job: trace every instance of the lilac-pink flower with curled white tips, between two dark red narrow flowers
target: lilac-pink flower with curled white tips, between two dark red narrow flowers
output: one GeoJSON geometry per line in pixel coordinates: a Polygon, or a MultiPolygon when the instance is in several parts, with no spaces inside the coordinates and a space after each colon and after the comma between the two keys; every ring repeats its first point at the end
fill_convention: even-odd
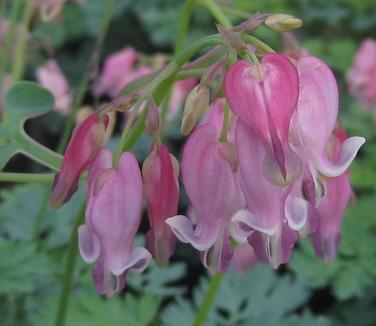
{"type": "Polygon", "coordinates": [[[128,270],[142,272],[151,254],[133,248],[141,221],[142,177],[130,152],[112,168],[112,154],[101,149],[90,164],[85,224],[78,229],[79,248],[87,263],[98,260],[93,270],[97,291],[111,296],[124,288],[128,270]]]}

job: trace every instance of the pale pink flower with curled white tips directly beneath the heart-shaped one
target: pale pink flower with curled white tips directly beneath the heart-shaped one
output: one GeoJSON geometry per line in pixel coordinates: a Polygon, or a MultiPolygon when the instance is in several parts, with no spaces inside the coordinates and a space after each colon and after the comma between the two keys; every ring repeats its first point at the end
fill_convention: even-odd
{"type": "Polygon", "coordinates": [[[300,198],[286,198],[291,186],[279,187],[263,175],[265,147],[251,127],[239,121],[236,129],[240,185],[247,209],[232,218],[232,235],[240,243],[249,242],[258,260],[277,268],[288,262],[297,241],[297,233],[287,218],[305,220],[307,208],[300,198]]]}

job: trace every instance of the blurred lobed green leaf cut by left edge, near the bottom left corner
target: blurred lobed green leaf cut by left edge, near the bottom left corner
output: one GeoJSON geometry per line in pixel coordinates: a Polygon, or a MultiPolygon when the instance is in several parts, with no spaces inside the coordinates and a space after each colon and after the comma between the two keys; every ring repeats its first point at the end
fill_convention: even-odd
{"type": "Polygon", "coordinates": [[[0,294],[34,291],[51,275],[50,267],[34,244],[0,239],[0,294]]]}

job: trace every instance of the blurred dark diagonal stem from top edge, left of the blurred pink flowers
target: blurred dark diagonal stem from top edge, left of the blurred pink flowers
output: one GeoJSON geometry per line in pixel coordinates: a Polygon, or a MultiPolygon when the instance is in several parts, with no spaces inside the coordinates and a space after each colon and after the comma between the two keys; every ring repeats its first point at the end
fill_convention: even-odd
{"type": "Polygon", "coordinates": [[[103,16],[102,16],[101,28],[100,28],[99,34],[97,36],[97,40],[95,42],[93,52],[92,52],[91,57],[88,61],[85,72],[82,76],[80,85],[78,87],[78,91],[76,93],[76,96],[74,97],[72,112],[69,115],[68,121],[66,122],[65,129],[64,129],[64,132],[63,132],[63,136],[62,136],[60,143],[59,143],[59,146],[58,146],[58,152],[59,153],[64,152],[65,147],[68,144],[68,141],[69,141],[71,133],[72,133],[72,129],[74,127],[76,112],[78,111],[78,109],[82,105],[87,87],[88,87],[89,82],[90,82],[90,77],[92,76],[92,72],[97,69],[97,65],[98,65],[98,61],[99,61],[99,53],[101,51],[103,42],[105,40],[106,34],[107,34],[109,26],[110,26],[111,16],[112,16],[112,12],[113,12],[113,8],[114,8],[115,3],[116,3],[116,0],[107,0],[107,2],[106,2],[106,6],[104,8],[103,16]]]}

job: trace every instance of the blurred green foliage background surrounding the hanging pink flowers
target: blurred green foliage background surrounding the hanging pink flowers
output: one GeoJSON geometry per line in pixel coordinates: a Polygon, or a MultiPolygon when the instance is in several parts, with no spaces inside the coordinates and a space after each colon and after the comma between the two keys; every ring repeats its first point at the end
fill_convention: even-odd
{"type": "MultiPolygon", "coordinates": [[[[200,2],[200,1],[198,1],[200,2]]],[[[340,85],[341,119],[349,135],[367,143],[353,163],[351,179],[356,201],[343,220],[342,242],[333,263],[317,258],[310,240],[299,243],[289,265],[273,271],[257,265],[249,272],[226,274],[207,325],[376,325],[376,133],[371,114],[346,90],[346,73],[361,41],[376,37],[374,0],[217,0],[228,17],[239,22],[246,13],[288,13],[304,21],[295,33],[302,47],[324,59],[340,85]]],[[[145,54],[173,52],[183,1],[118,0],[101,62],[126,46],[145,54]]],[[[67,2],[57,22],[33,26],[25,79],[53,57],[70,85],[77,88],[99,32],[104,1],[82,6],[67,2]]],[[[215,21],[198,5],[186,44],[215,32],[215,21]]],[[[257,36],[282,49],[280,35],[262,27],[257,36]]],[[[85,103],[93,105],[93,98],[85,103]]],[[[51,113],[28,123],[33,137],[56,146],[65,118],[51,113]]],[[[179,125],[169,141],[180,149],[179,125]]],[[[116,141],[116,138],[115,140],[116,141]]],[[[136,153],[150,148],[141,138],[136,153]]],[[[8,171],[40,171],[30,160],[16,157],[8,171]]],[[[1,184],[0,189],[0,324],[52,325],[64,272],[72,220],[84,192],[61,210],[41,210],[46,185],[1,184]],[[45,215],[39,241],[33,226],[45,215]]],[[[83,188],[83,187],[81,187],[83,188]]],[[[184,208],[184,207],[183,207],[184,208]]],[[[140,242],[142,239],[140,238],[140,242]]],[[[95,293],[90,266],[78,258],[67,325],[191,325],[208,285],[198,255],[179,245],[166,270],[152,265],[129,275],[128,286],[110,300],[95,293]],[[192,258],[194,257],[194,258],[192,258]]]]}

